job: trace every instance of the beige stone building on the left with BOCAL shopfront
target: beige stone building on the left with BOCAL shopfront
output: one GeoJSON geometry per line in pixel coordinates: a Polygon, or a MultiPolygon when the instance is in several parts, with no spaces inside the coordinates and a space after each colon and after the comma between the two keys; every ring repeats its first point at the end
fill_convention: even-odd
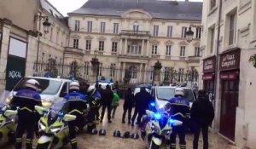
{"type": "Polygon", "coordinates": [[[44,72],[36,62],[63,63],[68,39],[67,20],[47,0],[1,1],[0,90],[12,89],[21,77],[44,72]]]}

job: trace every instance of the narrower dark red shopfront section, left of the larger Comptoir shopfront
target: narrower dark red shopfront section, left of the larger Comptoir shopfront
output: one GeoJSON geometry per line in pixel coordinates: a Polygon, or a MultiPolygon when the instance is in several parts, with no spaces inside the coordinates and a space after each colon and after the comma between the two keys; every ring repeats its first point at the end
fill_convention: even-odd
{"type": "Polygon", "coordinates": [[[214,93],[215,65],[215,56],[208,57],[207,59],[203,60],[203,88],[207,91],[208,95],[212,95],[214,93]]]}

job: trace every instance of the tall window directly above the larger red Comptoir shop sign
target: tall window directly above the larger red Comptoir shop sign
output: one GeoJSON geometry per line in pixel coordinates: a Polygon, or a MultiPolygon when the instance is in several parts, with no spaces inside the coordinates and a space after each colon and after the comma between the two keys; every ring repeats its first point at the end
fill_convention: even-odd
{"type": "Polygon", "coordinates": [[[230,15],[229,45],[236,43],[236,14],[230,15]]]}

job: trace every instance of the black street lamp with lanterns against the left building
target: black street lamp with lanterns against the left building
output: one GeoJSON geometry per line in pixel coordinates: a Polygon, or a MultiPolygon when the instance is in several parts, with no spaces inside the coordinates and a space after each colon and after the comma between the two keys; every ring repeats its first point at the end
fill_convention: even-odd
{"type": "MultiPolygon", "coordinates": [[[[39,31],[41,30],[41,20],[44,20],[43,26],[44,26],[44,33],[49,33],[49,26],[51,26],[51,23],[49,23],[48,16],[42,16],[42,15],[35,15],[34,21],[39,20],[39,31]]],[[[36,60],[36,71],[38,72],[38,55],[39,55],[39,48],[40,48],[40,37],[43,35],[41,32],[32,32],[33,37],[38,37],[38,51],[37,51],[37,60],[36,60]]]]}

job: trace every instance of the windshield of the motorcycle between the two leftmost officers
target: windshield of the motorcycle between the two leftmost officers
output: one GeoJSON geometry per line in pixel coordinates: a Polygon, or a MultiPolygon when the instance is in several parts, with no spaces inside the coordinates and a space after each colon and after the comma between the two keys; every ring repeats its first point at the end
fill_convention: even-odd
{"type": "Polygon", "coordinates": [[[55,123],[56,120],[64,117],[67,112],[67,104],[65,100],[56,101],[49,109],[48,125],[55,123]]]}

